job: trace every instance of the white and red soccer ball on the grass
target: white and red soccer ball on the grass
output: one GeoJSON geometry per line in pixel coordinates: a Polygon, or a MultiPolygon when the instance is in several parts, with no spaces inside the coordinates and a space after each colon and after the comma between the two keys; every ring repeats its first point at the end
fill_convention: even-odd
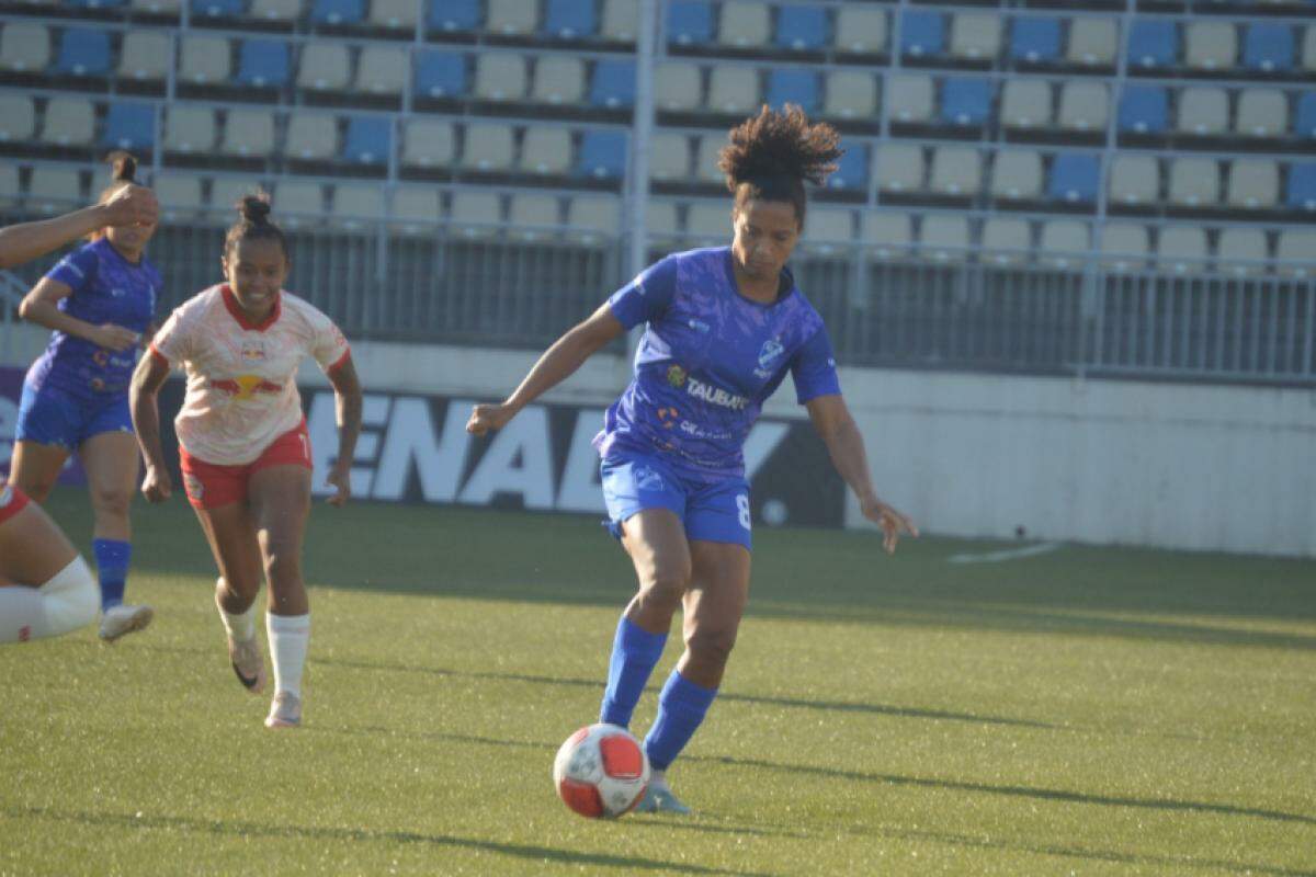
{"type": "Polygon", "coordinates": [[[617,724],[587,724],[567,738],[553,760],[553,785],[582,817],[625,815],[649,785],[644,747],[617,724]]]}

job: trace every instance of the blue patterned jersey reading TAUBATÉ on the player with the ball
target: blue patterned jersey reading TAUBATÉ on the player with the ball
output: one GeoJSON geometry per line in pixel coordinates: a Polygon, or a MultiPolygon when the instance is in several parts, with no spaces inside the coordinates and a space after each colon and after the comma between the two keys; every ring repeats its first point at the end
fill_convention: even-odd
{"type": "Polygon", "coordinates": [[[769,396],[791,372],[803,405],[841,392],[822,318],[783,272],[772,304],[740,293],[730,247],[676,252],[608,300],[630,329],[647,322],[636,373],[595,439],[670,452],[708,475],[744,475],[744,446],[769,396]]]}

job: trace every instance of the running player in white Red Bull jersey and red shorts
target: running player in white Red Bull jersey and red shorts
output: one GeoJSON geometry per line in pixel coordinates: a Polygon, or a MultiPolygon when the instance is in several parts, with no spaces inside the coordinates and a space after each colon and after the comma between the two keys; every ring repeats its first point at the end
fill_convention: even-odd
{"type": "Polygon", "coordinates": [[[142,493],[163,502],[172,492],[159,438],[157,393],[171,367],[187,375],[174,421],[183,486],[220,568],[215,601],[238,680],[265,686],[255,636],[261,572],[268,581],[266,628],[275,693],[267,727],[301,722],[301,671],[311,635],[301,580],[301,539],[311,511],[311,443],[296,373],[313,356],[337,397],[338,458],[326,483],[332,505],[350,494],[361,433],[361,384],[347,341],[309,302],[283,291],[288,246],[270,222],[270,204],[249,196],[224,245],[226,283],[183,302],[155,334],[133,375],[133,425],[146,458],[142,493]]]}

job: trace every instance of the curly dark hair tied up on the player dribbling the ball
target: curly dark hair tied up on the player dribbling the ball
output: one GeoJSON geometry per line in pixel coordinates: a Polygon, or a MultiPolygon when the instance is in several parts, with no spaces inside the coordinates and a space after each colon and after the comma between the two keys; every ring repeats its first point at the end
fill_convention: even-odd
{"type": "Polygon", "coordinates": [[[822,185],[836,170],[842,150],[840,134],[825,122],[809,124],[796,104],[780,112],[765,105],[758,116],[730,130],[717,167],[740,210],[750,199],[788,201],[804,226],[804,183],[822,185]]]}

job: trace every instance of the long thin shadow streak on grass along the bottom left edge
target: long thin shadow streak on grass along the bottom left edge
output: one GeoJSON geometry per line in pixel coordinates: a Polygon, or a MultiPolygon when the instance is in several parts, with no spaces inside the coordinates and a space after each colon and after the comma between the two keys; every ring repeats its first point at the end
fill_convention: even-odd
{"type": "Polygon", "coordinates": [[[49,807],[7,807],[0,810],[7,817],[18,819],[45,819],[50,822],[76,822],[84,826],[105,828],[168,828],[193,831],[197,834],[228,835],[234,838],[283,838],[293,840],[350,840],[386,841],[399,844],[422,844],[432,847],[458,847],[476,849],[501,856],[512,856],[529,861],[551,861],[565,865],[591,868],[616,868],[622,873],[669,872],[678,874],[724,874],[726,877],[770,877],[765,872],[728,870],[705,868],[640,856],[608,856],[603,853],[580,853],[553,847],[532,844],[496,843],[478,838],[458,838],[455,835],[428,835],[416,831],[374,831],[370,828],[334,828],[322,826],[266,826],[236,819],[193,819],[190,817],[129,815],[116,813],[62,811],[49,807]]]}

